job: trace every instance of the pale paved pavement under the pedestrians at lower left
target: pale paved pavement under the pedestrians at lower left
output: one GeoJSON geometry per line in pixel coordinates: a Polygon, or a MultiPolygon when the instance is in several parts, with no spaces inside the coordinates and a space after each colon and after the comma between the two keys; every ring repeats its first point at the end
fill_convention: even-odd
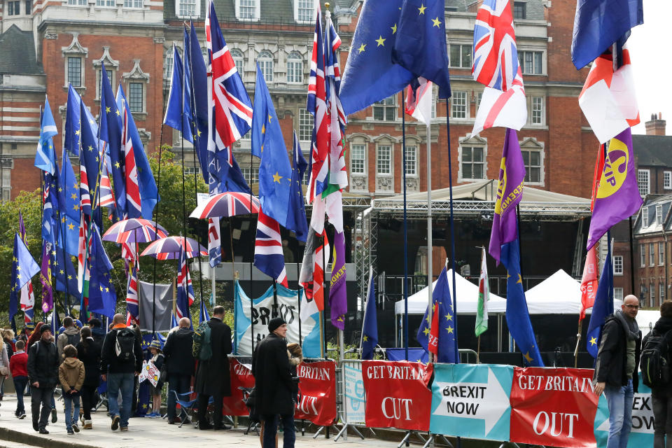
{"type": "MultiPolygon", "coordinates": [[[[30,417],[29,397],[25,402],[28,416],[23,420],[16,419],[16,397],[6,394],[0,402],[0,448],[188,448],[188,447],[260,447],[259,437],[254,433],[244,435],[244,427],[239,426],[231,430],[212,431],[197,430],[193,426],[169,425],[165,419],[134,418],[130,419],[128,432],[110,429],[111,420],[106,416],[105,408],[92,413],[93,429],[81,430],[75,435],[68,435],[65,429],[63,402],[56,402],[58,421],[47,426],[49,435],[40,435],[32,428],[30,417]]],[[[280,442],[280,447],[282,443],[280,442]]],[[[347,441],[339,439],[334,442],[333,434],[329,439],[319,435],[313,439],[306,433],[296,434],[297,447],[331,447],[346,448],[393,448],[396,442],[387,442],[373,438],[361,440],[359,437],[349,436],[347,441]]]]}

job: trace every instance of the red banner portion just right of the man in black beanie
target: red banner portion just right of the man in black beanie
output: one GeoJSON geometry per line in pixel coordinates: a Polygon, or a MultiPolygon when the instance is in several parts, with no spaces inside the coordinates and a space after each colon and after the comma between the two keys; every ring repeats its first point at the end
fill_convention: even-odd
{"type": "Polygon", "coordinates": [[[336,363],[318,361],[300,363],[296,367],[299,381],[299,402],[294,418],[310,420],[318,426],[330,425],[337,418],[336,363]]]}

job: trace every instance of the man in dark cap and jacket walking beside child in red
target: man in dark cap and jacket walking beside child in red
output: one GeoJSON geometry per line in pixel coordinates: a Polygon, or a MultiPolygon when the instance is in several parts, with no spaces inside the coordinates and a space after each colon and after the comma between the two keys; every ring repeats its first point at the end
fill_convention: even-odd
{"type": "Polygon", "coordinates": [[[28,351],[28,377],[33,429],[48,434],[47,422],[51,414],[54,388],[58,383],[58,351],[52,342],[51,328],[42,325],[41,338],[28,351]],[[40,412],[42,405],[42,412],[40,412]]]}

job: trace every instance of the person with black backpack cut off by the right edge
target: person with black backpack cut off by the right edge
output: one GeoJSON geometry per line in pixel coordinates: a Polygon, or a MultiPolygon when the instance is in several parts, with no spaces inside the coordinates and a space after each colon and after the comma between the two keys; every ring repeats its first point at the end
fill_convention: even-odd
{"type": "Polygon", "coordinates": [[[672,448],[672,301],[660,305],[660,318],[642,343],[642,377],[651,388],[653,402],[653,448],[672,448]],[[665,436],[667,435],[667,444],[665,436]]]}

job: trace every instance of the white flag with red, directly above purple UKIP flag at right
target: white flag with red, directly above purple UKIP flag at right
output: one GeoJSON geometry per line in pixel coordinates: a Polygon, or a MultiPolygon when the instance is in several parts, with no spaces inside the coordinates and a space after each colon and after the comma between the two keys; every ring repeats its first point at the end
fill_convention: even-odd
{"type": "Polygon", "coordinates": [[[616,71],[610,53],[595,59],[579,94],[579,106],[600,143],[640,121],[627,48],[623,49],[622,59],[622,66],[616,71]]]}

